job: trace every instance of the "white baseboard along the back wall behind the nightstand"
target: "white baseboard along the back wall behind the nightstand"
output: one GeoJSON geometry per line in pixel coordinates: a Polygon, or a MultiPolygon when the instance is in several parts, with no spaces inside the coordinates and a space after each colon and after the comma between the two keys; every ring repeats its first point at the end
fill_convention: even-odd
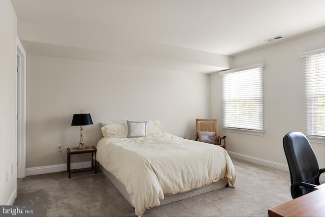
{"type": "MultiPolygon", "coordinates": [[[[81,169],[91,167],[91,161],[87,162],[79,162],[79,163],[72,163],[71,169],[81,169]]],[[[55,173],[67,171],[67,164],[56,164],[56,165],[49,165],[49,166],[42,166],[42,167],[29,167],[26,168],[26,176],[29,175],[40,175],[46,173],[55,173]]]]}

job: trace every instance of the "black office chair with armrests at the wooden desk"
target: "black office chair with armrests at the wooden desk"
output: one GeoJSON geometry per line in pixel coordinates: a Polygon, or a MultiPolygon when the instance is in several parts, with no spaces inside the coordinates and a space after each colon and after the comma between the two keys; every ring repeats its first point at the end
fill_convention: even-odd
{"type": "Polygon", "coordinates": [[[283,137],[283,148],[288,162],[293,199],[312,192],[319,185],[319,169],[316,156],[306,136],[300,132],[287,133],[283,137]]]}

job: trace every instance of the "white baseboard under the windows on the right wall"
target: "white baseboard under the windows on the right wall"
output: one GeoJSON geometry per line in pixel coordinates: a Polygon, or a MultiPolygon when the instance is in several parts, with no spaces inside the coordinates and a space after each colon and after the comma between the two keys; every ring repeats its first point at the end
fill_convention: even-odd
{"type": "MultiPolygon", "coordinates": [[[[234,158],[234,159],[247,161],[247,162],[250,162],[252,164],[259,165],[259,166],[264,166],[264,167],[269,167],[269,168],[272,168],[272,169],[278,169],[278,170],[282,170],[282,171],[285,171],[285,172],[289,172],[289,167],[286,164],[280,164],[280,163],[276,163],[276,162],[273,162],[273,161],[264,160],[264,159],[261,159],[261,158],[255,158],[255,157],[247,156],[245,154],[236,153],[236,152],[233,152],[233,151],[227,151],[227,152],[229,153],[229,156],[231,158],[234,158]]],[[[325,174],[320,175],[319,181],[320,182],[325,182],[325,174]]]]}

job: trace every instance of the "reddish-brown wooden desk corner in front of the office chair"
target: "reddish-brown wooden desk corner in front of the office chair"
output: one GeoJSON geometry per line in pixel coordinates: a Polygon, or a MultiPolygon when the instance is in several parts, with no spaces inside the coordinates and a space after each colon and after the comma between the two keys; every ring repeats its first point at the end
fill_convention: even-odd
{"type": "Polygon", "coordinates": [[[325,216],[325,188],[269,209],[268,214],[271,217],[325,216]]]}

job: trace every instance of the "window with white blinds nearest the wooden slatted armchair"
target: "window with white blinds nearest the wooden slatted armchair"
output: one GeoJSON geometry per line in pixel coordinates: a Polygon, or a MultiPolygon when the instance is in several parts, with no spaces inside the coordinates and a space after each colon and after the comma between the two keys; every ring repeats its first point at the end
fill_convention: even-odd
{"type": "Polygon", "coordinates": [[[264,64],[220,72],[222,76],[223,127],[264,131],[264,64]]]}

